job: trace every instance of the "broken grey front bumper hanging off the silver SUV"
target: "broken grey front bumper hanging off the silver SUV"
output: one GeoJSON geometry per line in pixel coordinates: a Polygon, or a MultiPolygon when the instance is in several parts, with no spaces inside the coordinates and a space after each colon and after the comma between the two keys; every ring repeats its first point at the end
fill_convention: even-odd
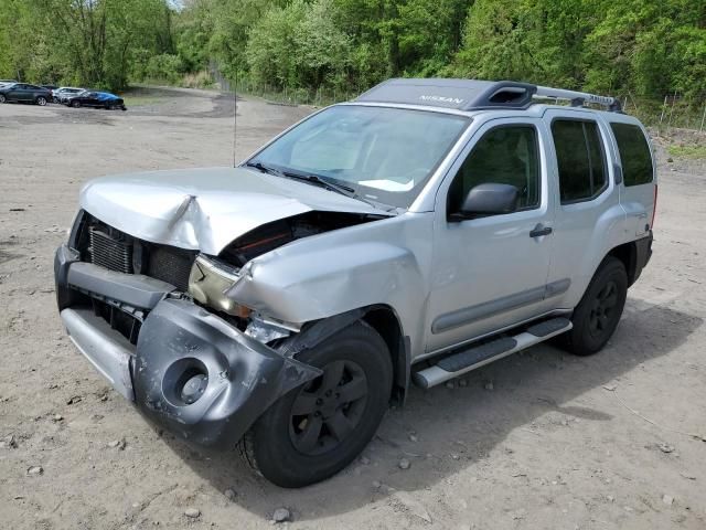
{"type": "Polygon", "coordinates": [[[290,390],[320,375],[220,317],[174,287],[141,275],[78,261],[63,245],[54,262],[62,321],[78,350],[149,418],[202,446],[233,446],[257,417],[290,390]],[[141,319],[131,343],[86,299],[141,319]],[[183,399],[186,380],[204,378],[199,398],[183,399]]]}

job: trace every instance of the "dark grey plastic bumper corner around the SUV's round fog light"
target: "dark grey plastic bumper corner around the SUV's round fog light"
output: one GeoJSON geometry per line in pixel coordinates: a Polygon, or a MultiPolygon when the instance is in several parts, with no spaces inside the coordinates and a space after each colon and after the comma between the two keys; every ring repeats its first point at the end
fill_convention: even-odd
{"type": "Polygon", "coordinates": [[[168,298],[140,330],[135,398],[142,413],[179,437],[226,449],[276,400],[321,373],[190,301],[168,298]],[[189,370],[207,377],[205,391],[191,404],[174,391],[189,370]]]}

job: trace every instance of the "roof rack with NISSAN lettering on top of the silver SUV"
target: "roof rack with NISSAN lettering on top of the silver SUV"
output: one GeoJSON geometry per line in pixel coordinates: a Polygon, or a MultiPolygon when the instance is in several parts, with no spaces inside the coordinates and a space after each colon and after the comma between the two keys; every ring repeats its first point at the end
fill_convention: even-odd
{"type": "Polygon", "coordinates": [[[595,104],[608,107],[612,112],[621,110],[620,102],[613,97],[514,81],[395,78],[374,86],[355,100],[486,110],[526,109],[535,103],[535,98],[568,100],[575,107],[595,104]]]}

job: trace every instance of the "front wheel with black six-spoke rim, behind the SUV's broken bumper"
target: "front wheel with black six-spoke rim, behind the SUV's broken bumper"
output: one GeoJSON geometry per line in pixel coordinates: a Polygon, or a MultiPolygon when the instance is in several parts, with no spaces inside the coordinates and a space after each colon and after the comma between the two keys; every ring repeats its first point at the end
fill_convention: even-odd
{"type": "Polygon", "coordinates": [[[385,341],[360,321],[297,359],[323,375],[275,402],[239,443],[250,467],[285,488],[318,483],[349,465],[375,435],[393,383],[385,341]]]}

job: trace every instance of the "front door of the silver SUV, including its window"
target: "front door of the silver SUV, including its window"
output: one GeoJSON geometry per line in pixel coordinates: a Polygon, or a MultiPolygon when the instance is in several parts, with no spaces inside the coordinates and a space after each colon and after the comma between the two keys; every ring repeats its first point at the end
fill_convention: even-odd
{"type": "Polygon", "coordinates": [[[548,131],[539,119],[499,118],[473,135],[437,194],[427,351],[480,337],[552,308],[547,274],[555,197],[548,131]],[[475,186],[512,184],[513,213],[453,219],[475,186]]]}

